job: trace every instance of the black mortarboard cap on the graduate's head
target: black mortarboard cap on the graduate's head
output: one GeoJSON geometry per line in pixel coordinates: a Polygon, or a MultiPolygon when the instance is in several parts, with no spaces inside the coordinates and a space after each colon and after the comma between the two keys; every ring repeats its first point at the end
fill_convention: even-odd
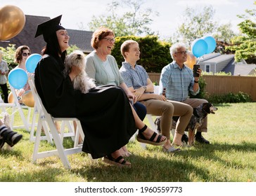
{"type": "Polygon", "coordinates": [[[42,34],[44,36],[44,41],[47,42],[53,33],[60,29],[65,29],[64,27],[60,26],[61,17],[62,15],[59,15],[56,18],[37,25],[37,32],[34,37],[40,36],[42,34]]]}

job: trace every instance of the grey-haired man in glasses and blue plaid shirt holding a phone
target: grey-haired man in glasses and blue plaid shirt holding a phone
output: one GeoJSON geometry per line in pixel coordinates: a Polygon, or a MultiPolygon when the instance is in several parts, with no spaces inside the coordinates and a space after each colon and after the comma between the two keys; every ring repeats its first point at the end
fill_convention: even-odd
{"type": "MultiPolygon", "coordinates": [[[[188,97],[189,92],[196,95],[200,91],[198,81],[202,70],[199,68],[197,71],[199,76],[194,77],[193,70],[184,64],[187,59],[186,45],[184,43],[175,43],[169,50],[173,62],[162,68],[160,92],[165,88],[167,99],[188,104],[193,108],[207,103],[205,99],[191,99],[188,97]]],[[[203,125],[198,127],[196,141],[200,144],[210,144],[210,141],[203,137],[202,132],[207,132],[207,117],[204,119],[203,125]]]]}

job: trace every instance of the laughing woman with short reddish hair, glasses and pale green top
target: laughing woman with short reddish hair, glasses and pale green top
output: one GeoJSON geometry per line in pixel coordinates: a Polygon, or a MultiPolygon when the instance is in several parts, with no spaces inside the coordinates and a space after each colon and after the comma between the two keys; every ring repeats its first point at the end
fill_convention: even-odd
{"type": "MultiPolygon", "coordinates": [[[[129,92],[119,73],[115,57],[110,55],[114,43],[115,34],[112,30],[100,27],[94,31],[91,38],[91,46],[95,50],[86,57],[86,72],[89,78],[93,78],[96,81],[96,85],[117,85],[129,95],[132,93],[129,92]]],[[[146,116],[146,107],[136,101],[133,106],[139,118],[143,121],[146,116]]],[[[131,154],[126,146],[124,146],[123,151],[126,156],[131,154]]]]}

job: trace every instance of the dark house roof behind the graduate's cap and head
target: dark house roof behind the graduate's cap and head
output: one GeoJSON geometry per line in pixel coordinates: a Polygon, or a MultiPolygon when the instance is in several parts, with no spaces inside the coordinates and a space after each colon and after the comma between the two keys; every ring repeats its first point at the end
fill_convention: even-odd
{"type": "MultiPolygon", "coordinates": [[[[15,48],[20,45],[27,45],[30,47],[32,53],[41,53],[41,49],[44,48],[46,43],[43,36],[34,38],[37,30],[37,25],[42,22],[50,20],[49,17],[37,16],[37,15],[25,15],[25,26],[20,33],[8,40],[9,42],[0,42],[0,46],[6,48],[9,44],[15,44],[15,48]]],[[[84,52],[91,52],[94,49],[91,48],[91,35],[92,31],[72,30],[67,29],[70,35],[70,45],[77,45],[77,47],[84,52]]]]}

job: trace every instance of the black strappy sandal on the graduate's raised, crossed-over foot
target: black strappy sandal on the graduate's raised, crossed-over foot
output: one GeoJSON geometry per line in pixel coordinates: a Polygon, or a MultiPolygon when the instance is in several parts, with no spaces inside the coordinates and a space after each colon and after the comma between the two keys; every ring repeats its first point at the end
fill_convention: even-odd
{"type": "Polygon", "coordinates": [[[161,138],[162,138],[161,134],[159,134],[158,139],[154,141],[155,137],[157,136],[156,132],[152,134],[150,139],[146,139],[146,137],[144,137],[142,134],[146,129],[147,129],[147,125],[145,125],[141,130],[139,130],[139,133],[137,134],[137,137],[136,137],[137,141],[145,144],[151,144],[154,146],[162,146],[163,144],[165,144],[166,138],[164,141],[161,141],[161,138]]]}

